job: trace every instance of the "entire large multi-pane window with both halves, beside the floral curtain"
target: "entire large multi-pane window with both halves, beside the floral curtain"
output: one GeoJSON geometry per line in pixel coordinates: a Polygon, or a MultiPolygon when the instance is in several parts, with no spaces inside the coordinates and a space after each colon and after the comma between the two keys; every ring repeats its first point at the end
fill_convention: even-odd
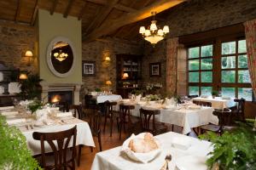
{"type": "Polygon", "coordinates": [[[191,47],[188,53],[189,95],[210,95],[215,89],[224,97],[253,99],[246,40],[216,41],[191,47]]]}

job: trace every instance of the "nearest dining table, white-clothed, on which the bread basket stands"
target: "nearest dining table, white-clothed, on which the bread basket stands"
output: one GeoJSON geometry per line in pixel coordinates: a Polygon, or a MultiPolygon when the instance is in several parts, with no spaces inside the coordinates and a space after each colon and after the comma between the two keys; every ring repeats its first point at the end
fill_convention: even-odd
{"type": "Polygon", "coordinates": [[[154,139],[160,143],[160,154],[151,161],[133,161],[119,146],[96,153],[91,170],[160,170],[167,155],[172,158],[168,163],[170,170],[207,170],[206,161],[212,143],[173,132],[162,133],[154,139]],[[177,147],[177,139],[189,141],[188,147],[177,147]]]}

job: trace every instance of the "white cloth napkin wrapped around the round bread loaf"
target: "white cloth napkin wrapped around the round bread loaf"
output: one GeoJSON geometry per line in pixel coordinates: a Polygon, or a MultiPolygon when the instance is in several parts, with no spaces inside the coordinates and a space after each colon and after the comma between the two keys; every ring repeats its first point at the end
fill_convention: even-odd
{"type": "Polygon", "coordinates": [[[124,144],[122,145],[121,151],[124,152],[128,157],[130,157],[134,161],[141,161],[143,163],[147,163],[148,161],[153,160],[156,156],[160,154],[161,149],[160,149],[160,143],[158,140],[156,140],[156,142],[159,145],[159,149],[149,151],[148,153],[136,153],[128,147],[131,139],[135,139],[135,138],[144,139],[144,135],[145,133],[139,133],[137,136],[134,134],[131,134],[131,137],[129,139],[126,139],[124,144]]]}

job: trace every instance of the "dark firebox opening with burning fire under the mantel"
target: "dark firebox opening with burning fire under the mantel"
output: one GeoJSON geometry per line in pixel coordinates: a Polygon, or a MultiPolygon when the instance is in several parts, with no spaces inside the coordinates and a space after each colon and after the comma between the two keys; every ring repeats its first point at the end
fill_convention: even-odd
{"type": "Polygon", "coordinates": [[[69,105],[73,105],[73,91],[48,92],[48,101],[50,103],[67,102],[69,105]]]}

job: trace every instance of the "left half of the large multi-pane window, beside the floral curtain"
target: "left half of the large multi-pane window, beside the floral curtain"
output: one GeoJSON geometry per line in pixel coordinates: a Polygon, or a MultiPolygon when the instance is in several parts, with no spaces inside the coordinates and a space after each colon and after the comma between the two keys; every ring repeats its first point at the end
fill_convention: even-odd
{"type": "Polygon", "coordinates": [[[189,48],[189,95],[211,94],[212,44],[189,48]]]}

